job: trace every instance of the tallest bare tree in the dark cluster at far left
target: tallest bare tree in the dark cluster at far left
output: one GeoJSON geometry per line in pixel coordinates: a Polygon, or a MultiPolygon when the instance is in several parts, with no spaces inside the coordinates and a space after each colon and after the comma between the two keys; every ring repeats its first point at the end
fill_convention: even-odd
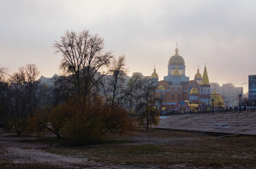
{"type": "Polygon", "coordinates": [[[27,64],[18,69],[17,73],[10,76],[10,89],[12,101],[10,114],[12,125],[16,132],[21,134],[26,127],[28,115],[33,113],[39,105],[38,86],[36,80],[39,70],[35,64],[27,64]]]}

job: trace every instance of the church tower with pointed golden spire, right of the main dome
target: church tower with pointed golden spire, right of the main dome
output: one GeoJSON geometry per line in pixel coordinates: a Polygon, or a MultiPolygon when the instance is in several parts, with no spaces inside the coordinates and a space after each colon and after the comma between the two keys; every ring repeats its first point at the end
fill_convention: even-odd
{"type": "Polygon", "coordinates": [[[202,74],[202,82],[200,84],[200,88],[201,88],[200,101],[205,102],[205,104],[207,105],[210,104],[210,99],[211,99],[209,87],[210,87],[209,78],[207,74],[207,68],[205,65],[205,70],[204,70],[204,73],[202,74]]]}

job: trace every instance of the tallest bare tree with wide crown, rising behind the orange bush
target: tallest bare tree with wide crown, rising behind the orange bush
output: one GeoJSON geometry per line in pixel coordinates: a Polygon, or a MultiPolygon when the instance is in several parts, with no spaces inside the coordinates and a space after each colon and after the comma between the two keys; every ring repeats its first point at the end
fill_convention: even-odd
{"type": "Polygon", "coordinates": [[[84,96],[106,75],[99,74],[99,70],[112,59],[110,51],[103,54],[104,40],[99,35],[90,35],[88,30],[80,34],[67,31],[60,42],[54,43],[54,48],[63,56],[60,65],[63,73],[73,75],[75,90],[84,96]]]}

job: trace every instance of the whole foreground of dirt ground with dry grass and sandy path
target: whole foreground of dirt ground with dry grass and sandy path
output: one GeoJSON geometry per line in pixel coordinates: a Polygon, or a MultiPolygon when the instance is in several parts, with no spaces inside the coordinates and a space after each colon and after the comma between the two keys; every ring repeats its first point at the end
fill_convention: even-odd
{"type": "Polygon", "coordinates": [[[104,144],[68,147],[0,130],[0,168],[256,168],[255,137],[139,130],[104,144]]]}

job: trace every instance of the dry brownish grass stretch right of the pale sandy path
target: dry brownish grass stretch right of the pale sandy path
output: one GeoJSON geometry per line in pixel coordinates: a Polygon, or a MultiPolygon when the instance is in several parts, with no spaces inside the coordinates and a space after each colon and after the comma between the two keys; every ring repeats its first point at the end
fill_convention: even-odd
{"type": "Polygon", "coordinates": [[[253,168],[256,165],[256,137],[213,138],[193,132],[140,130],[112,138],[118,140],[101,146],[54,148],[47,151],[89,157],[92,161],[105,163],[185,164],[214,168],[253,168]],[[142,141],[134,139],[138,137],[142,141]]]}

